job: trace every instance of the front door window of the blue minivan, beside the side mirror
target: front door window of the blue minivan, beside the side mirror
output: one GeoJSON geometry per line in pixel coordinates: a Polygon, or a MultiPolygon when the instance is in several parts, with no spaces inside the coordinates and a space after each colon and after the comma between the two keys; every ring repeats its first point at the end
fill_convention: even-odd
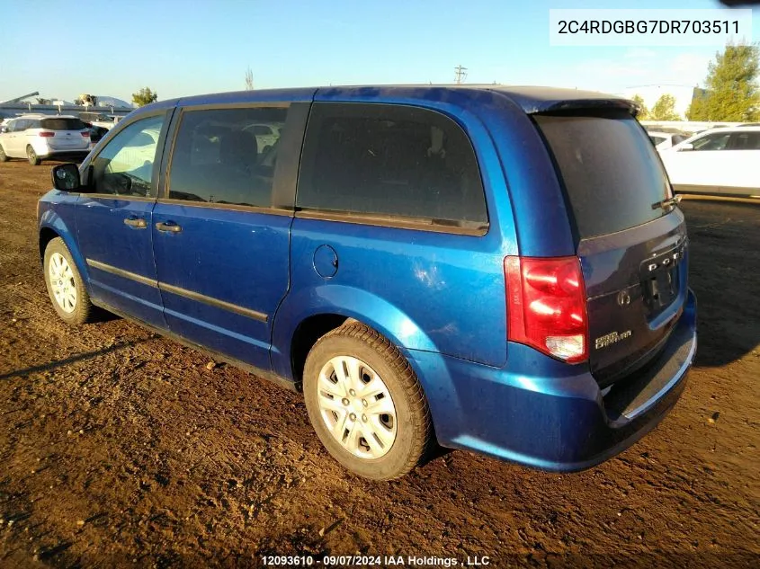
{"type": "Polygon", "coordinates": [[[137,120],[121,130],[94,159],[95,193],[151,195],[153,164],[164,115],[137,120]]]}

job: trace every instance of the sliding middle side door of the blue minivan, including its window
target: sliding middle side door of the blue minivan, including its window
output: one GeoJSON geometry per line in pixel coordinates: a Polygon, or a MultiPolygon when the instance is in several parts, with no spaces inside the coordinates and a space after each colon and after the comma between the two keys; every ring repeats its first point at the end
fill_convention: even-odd
{"type": "Polygon", "coordinates": [[[165,199],[153,212],[158,286],[170,330],[260,369],[270,369],[273,316],[289,287],[303,136],[303,125],[291,117],[305,116],[289,105],[184,110],[165,199]],[[285,137],[259,146],[252,125],[286,121],[293,128],[285,131],[299,138],[294,156],[282,150],[291,147],[285,137]],[[277,197],[283,191],[290,193],[290,207],[277,197]]]}

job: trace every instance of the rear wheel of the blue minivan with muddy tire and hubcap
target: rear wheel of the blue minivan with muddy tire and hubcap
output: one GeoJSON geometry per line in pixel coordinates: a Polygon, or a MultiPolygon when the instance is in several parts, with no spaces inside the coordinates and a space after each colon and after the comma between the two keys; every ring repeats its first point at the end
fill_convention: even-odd
{"type": "Polygon", "coordinates": [[[317,340],[304,366],[303,391],[319,440],[354,474],[371,480],[398,478],[422,463],[433,448],[430,409],[414,370],[396,346],[366,325],[350,321],[317,340]],[[343,361],[344,380],[335,371],[335,363],[341,366],[343,361]],[[358,373],[352,374],[355,365],[358,373]],[[361,383],[352,383],[351,376],[361,383]],[[370,384],[378,378],[380,383],[370,384]],[[374,393],[380,384],[389,400],[374,393]],[[358,387],[348,393],[352,385],[358,387]],[[393,413],[382,413],[390,408],[393,413]]]}

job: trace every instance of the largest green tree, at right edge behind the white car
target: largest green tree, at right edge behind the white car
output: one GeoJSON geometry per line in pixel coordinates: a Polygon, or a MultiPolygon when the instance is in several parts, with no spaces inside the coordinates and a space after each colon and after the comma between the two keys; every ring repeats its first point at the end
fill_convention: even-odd
{"type": "Polygon", "coordinates": [[[760,49],[729,44],[708,66],[706,95],[694,99],[689,120],[752,122],[760,119],[760,49]]]}

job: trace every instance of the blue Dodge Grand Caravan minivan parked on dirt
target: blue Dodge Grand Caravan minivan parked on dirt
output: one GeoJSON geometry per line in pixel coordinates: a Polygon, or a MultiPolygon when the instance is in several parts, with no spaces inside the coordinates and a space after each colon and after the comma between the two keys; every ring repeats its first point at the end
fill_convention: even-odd
{"type": "Polygon", "coordinates": [[[361,476],[436,444],[592,467],[675,405],[696,349],[684,215],[635,114],[496,85],[156,102],[53,168],[49,296],[302,391],[361,476]]]}

